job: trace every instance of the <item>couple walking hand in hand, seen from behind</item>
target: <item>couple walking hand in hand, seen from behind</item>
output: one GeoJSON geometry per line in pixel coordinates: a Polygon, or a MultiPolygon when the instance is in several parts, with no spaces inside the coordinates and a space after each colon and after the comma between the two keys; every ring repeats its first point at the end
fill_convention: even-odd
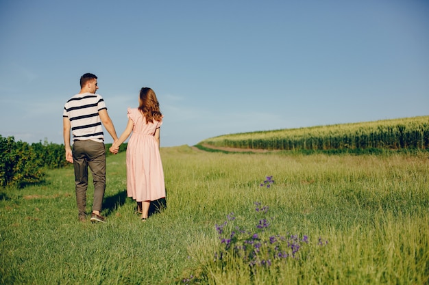
{"type": "Polygon", "coordinates": [[[64,105],[63,131],[66,161],[75,169],[75,191],[79,221],[86,221],[86,189],[88,166],[93,174],[94,202],[90,221],[105,222],[101,216],[106,189],[106,148],[104,128],[114,143],[110,152],[117,154],[119,146],[130,136],[127,145],[127,196],[137,202],[140,219],[146,221],[151,201],[165,198],[164,172],[160,157],[160,126],[162,114],[154,90],[140,90],[138,108],[128,108],[128,123],[121,137],[117,137],[106,104],[99,94],[97,77],[86,73],[80,78],[81,90],[64,105]],[[73,135],[73,150],[70,144],[73,135]]]}

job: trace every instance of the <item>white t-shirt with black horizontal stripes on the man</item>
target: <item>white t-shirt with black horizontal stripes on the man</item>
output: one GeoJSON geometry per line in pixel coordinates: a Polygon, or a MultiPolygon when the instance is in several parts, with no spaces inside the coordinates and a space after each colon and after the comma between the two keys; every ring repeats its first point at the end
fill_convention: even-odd
{"type": "Polygon", "coordinates": [[[98,114],[106,109],[106,104],[99,94],[76,94],[64,105],[62,116],[69,118],[73,141],[104,141],[101,119],[98,114]]]}

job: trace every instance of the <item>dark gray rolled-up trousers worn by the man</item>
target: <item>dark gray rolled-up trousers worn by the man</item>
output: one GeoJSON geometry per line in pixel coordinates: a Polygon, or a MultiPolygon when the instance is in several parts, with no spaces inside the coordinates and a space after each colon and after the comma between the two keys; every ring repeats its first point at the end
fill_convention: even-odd
{"type": "Polygon", "coordinates": [[[106,190],[106,148],[97,141],[73,142],[73,166],[75,167],[75,190],[77,210],[86,215],[86,190],[88,189],[88,166],[93,174],[93,211],[101,211],[106,190]]]}

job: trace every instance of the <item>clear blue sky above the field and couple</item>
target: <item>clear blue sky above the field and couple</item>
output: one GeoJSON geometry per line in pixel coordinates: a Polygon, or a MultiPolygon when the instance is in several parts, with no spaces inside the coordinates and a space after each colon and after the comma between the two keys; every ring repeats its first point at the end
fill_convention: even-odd
{"type": "Polygon", "coordinates": [[[162,146],[429,115],[424,0],[1,0],[0,38],[0,135],[29,143],[63,143],[86,72],[118,135],[154,89],[162,146]]]}

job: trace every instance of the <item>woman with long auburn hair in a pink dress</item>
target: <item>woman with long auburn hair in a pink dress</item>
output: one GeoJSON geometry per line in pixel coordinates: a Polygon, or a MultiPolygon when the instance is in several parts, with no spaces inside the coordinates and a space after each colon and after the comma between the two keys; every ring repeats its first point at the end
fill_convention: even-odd
{"type": "Polygon", "coordinates": [[[125,131],[110,152],[117,153],[119,146],[130,136],[127,145],[127,195],[137,202],[140,219],[146,221],[150,202],[165,198],[164,171],[160,156],[160,126],[162,113],[154,90],[140,90],[138,108],[128,108],[125,131]]]}

